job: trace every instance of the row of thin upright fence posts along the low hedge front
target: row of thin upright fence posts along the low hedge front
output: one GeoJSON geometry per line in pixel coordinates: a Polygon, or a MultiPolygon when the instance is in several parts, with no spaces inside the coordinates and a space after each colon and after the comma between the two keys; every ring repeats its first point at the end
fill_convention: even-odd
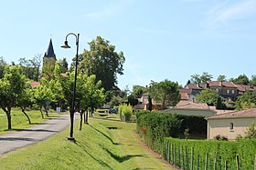
{"type": "Polygon", "coordinates": [[[165,160],[184,170],[256,170],[256,155],[254,155],[254,160],[251,160],[254,165],[244,164],[242,157],[239,155],[236,155],[231,161],[222,160],[218,152],[203,153],[203,155],[202,153],[201,155],[195,155],[194,146],[187,148],[186,145],[176,145],[165,141],[165,160]]]}

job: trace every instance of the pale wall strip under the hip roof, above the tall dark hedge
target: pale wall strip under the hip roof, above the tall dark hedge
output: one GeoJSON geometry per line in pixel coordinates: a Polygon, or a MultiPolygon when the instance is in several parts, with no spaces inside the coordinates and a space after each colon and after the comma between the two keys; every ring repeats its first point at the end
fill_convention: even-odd
{"type": "Polygon", "coordinates": [[[182,108],[173,108],[167,109],[164,111],[165,113],[174,113],[177,115],[203,115],[203,116],[213,116],[215,115],[214,112],[207,109],[182,109],[182,108]]]}

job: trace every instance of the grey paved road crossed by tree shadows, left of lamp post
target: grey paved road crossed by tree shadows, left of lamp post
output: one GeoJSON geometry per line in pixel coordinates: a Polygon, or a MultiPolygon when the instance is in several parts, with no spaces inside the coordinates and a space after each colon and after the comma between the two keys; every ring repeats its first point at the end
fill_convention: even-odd
{"type": "MultiPolygon", "coordinates": [[[[75,117],[78,117],[78,115],[75,117]]],[[[43,141],[51,135],[58,134],[68,126],[69,115],[60,115],[59,117],[52,117],[40,125],[21,129],[11,134],[0,135],[0,156],[17,148],[43,141]]]]}

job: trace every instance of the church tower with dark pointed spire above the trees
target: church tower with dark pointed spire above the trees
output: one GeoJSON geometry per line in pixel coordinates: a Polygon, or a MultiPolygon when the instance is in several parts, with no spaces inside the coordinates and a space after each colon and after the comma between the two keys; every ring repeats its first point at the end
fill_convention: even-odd
{"type": "Polygon", "coordinates": [[[43,68],[42,68],[42,75],[46,79],[50,80],[54,75],[54,67],[56,62],[56,55],[53,50],[53,45],[51,38],[48,44],[48,50],[43,57],[43,68]]]}

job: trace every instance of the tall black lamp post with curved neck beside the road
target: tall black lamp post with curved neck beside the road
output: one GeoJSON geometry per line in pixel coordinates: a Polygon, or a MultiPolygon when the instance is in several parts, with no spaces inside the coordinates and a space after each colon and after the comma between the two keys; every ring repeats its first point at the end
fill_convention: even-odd
{"type": "Polygon", "coordinates": [[[76,68],[75,68],[75,82],[73,86],[73,97],[72,97],[72,108],[70,112],[70,136],[68,140],[70,141],[75,141],[75,138],[73,137],[73,129],[74,129],[74,115],[75,115],[75,100],[76,100],[76,86],[77,86],[77,74],[78,74],[78,58],[79,58],[79,39],[80,39],[80,34],[75,35],[74,33],[69,33],[66,35],[66,40],[64,42],[64,45],[62,45],[62,48],[70,48],[68,44],[68,36],[69,35],[74,35],[76,37],[76,45],[77,45],[77,54],[76,54],[76,68]]]}

